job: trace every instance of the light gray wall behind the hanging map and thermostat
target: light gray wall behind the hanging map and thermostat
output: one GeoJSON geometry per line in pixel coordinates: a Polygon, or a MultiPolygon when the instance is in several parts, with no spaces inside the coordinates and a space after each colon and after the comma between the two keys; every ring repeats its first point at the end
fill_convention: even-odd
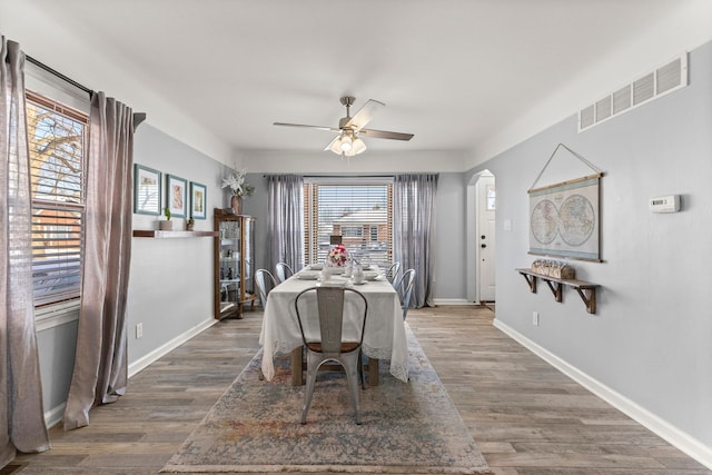
{"type": "MultiPolygon", "coordinates": [[[[712,318],[706,293],[712,232],[712,43],[690,55],[690,86],[577,133],[571,117],[471,174],[497,186],[497,319],[635,405],[712,447],[712,318]],[[528,267],[528,197],[563,142],[605,172],[603,263],[572,261],[600,284],[586,314],[574,290],[554,301],[531,294],[514,269],[528,267]],[[679,214],[651,214],[651,197],[682,195],[679,214]],[[511,219],[513,229],[504,230],[511,219]],[[541,315],[533,326],[532,311],[541,315]]],[[[591,172],[557,154],[538,185],[591,172]],[[577,169],[576,169],[577,168],[577,169]]]]}

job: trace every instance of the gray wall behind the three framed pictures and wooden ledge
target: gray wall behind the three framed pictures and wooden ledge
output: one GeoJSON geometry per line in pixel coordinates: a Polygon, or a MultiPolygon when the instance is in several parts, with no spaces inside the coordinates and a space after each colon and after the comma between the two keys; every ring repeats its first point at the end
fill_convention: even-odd
{"type": "MultiPolygon", "coordinates": [[[[166,133],[142,125],[136,131],[134,161],[207,187],[207,219],[196,230],[212,230],[212,209],[226,206],[220,188],[225,167],[166,133]]],[[[157,229],[156,216],[134,215],[134,229],[157,229]]],[[[172,218],[185,229],[184,218],[172,218]]],[[[148,355],[172,338],[212,318],[212,239],[134,238],[128,293],[129,359],[148,355]],[[144,337],[136,338],[136,324],[144,337]]]]}

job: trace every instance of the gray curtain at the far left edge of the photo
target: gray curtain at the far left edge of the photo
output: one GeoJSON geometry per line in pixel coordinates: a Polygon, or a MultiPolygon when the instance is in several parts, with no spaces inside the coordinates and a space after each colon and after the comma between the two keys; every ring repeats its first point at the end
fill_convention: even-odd
{"type": "Polygon", "coordinates": [[[50,448],[32,301],[32,202],[24,116],[24,53],[0,49],[0,467],[50,448]]]}

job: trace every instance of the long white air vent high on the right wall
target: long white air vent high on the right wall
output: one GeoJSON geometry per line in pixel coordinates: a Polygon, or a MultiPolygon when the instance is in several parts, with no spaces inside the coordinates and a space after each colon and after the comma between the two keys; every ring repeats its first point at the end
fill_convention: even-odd
{"type": "Polygon", "coordinates": [[[578,131],[688,86],[688,55],[625,85],[578,111],[578,131]]]}

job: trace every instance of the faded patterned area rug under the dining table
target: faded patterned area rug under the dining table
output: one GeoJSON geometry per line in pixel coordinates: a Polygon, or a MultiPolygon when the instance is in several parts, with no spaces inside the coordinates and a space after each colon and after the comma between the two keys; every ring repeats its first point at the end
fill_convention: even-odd
{"type": "Polygon", "coordinates": [[[307,424],[299,424],[304,387],[290,385],[288,359],[275,362],[271,382],[260,380],[259,352],[161,472],[490,473],[406,329],[411,382],[382,367],[380,385],[360,392],[362,425],[339,372],[318,374],[307,424]]]}

